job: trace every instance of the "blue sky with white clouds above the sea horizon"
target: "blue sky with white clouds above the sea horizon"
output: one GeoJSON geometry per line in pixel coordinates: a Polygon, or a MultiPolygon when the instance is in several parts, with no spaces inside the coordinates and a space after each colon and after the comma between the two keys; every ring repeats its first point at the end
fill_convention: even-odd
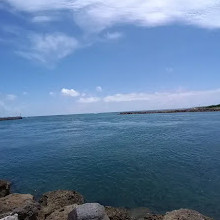
{"type": "Polygon", "coordinates": [[[0,117],[220,103],[220,0],[0,0],[0,117]]]}

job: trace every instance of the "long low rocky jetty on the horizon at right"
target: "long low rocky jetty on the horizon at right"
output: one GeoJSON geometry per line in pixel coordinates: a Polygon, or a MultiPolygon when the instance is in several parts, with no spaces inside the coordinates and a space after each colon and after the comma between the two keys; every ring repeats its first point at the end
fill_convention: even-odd
{"type": "Polygon", "coordinates": [[[156,114],[156,113],[180,113],[180,112],[217,112],[220,111],[219,105],[210,105],[195,108],[185,108],[185,109],[168,109],[168,110],[149,110],[149,111],[129,111],[120,112],[120,115],[133,115],[133,114],[156,114]]]}

